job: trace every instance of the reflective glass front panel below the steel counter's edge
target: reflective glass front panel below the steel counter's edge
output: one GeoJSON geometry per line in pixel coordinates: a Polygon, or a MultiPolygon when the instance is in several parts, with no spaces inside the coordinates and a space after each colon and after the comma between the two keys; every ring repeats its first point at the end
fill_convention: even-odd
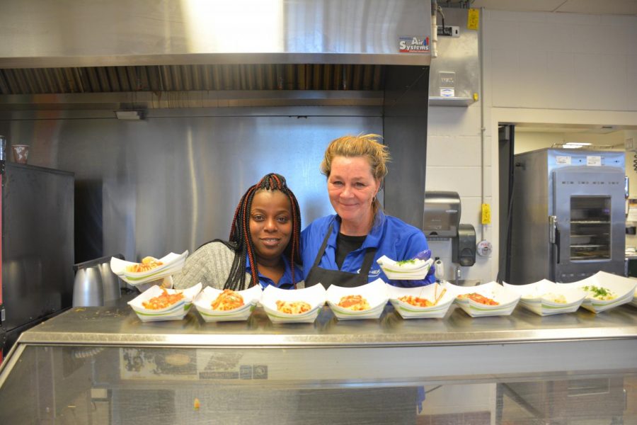
{"type": "Polygon", "coordinates": [[[637,370],[374,380],[313,370],[329,349],[292,350],[286,368],[286,351],[26,346],[0,387],[0,423],[637,423],[637,370]]]}

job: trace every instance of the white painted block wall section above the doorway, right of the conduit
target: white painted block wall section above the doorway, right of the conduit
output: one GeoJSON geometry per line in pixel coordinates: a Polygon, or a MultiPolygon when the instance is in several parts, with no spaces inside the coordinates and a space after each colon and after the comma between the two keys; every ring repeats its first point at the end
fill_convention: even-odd
{"type": "Polygon", "coordinates": [[[637,18],[485,12],[495,107],[636,111],[637,18]]]}

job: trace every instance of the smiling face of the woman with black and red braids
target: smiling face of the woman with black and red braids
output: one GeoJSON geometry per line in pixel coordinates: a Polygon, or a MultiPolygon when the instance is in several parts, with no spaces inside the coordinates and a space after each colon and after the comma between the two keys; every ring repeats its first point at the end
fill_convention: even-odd
{"type": "Polygon", "coordinates": [[[250,208],[250,234],[258,262],[280,259],[292,236],[292,206],[285,193],[255,193],[250,208]]]}

